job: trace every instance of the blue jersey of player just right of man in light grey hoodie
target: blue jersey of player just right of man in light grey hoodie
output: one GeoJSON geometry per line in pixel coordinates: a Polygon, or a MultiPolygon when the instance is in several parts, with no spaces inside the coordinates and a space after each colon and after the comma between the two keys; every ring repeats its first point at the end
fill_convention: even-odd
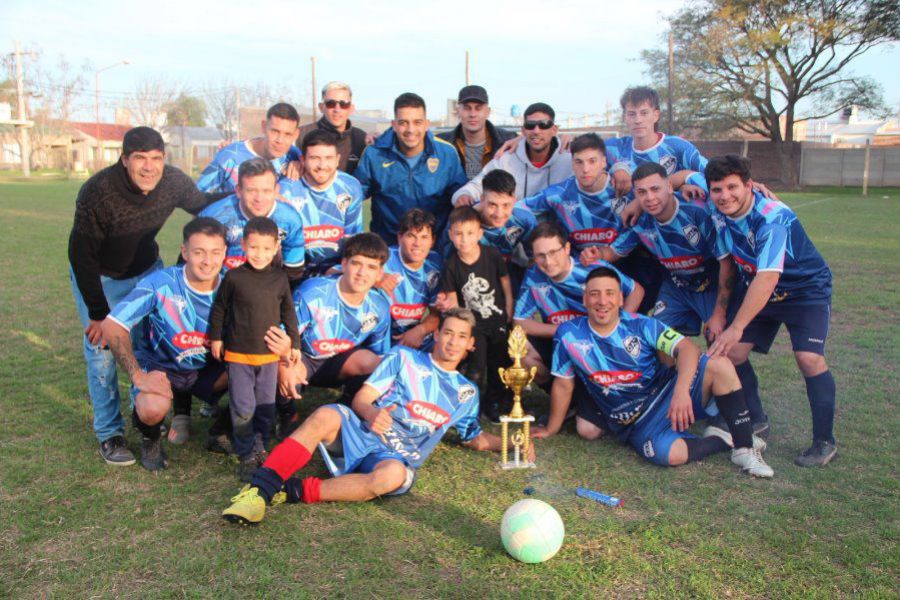
{"type": "Polygon", "coordinates": [[[616,198],[612,177],[602,191],[589,194],[578,187],[578,180],[572,176],[522,203],[537,214],[552,213],[569,235],[575,255],[589,246],[612,244],[624,229],[618,215],[627,201],[616,198]]]}

